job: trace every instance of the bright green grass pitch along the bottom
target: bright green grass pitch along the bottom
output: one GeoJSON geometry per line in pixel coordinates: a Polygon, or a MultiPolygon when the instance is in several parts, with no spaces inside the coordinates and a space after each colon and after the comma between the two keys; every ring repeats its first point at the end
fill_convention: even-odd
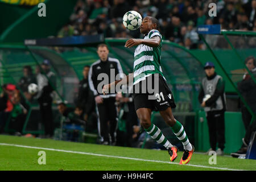
{"type": "Polygon", "coordinates": [[[179,165],[182,154],[183,152],[178,152],[177,159],[174,163],[171,163],[167,151],[0,135],[1,171],[212,171],[256,169],[256,160],[217,156],[217,164],[211,165],[209,164],[210,156],[197,154],[196,152],[188,165],[179,165]],[[38,164],[39,151],[46,152],[46,164],[38,164]]]}

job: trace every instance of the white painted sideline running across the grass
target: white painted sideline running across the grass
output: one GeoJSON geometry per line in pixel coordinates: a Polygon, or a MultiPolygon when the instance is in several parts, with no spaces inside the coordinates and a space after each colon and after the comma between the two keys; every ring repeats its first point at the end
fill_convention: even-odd
{"type": "MultiPolygon", "coordinates": [[[[102,156],[107,158],[118,158],[118,159],[129,159],[129,160],[139,160],[144,162],[154,162],[154,163],[167,163],[167,164],[178,164],[179,163],[171,163],[166,162],[162,160],[147,160],[147,159],[138,159],[138,158],[127,158],[122,156],[113,156],[113,155],[102,155],[102,154],[94,154],[94,153],[88,153],[88,152],[78,152],[78,151],[70,151],[70,150],[59,150],[54,148],[43,148],[43,147],[32,147],[32,146],[22,146],[19,144],[9,144],[9,143],[0,143],[2,146],[14,146],[14,147],[23,147],[23,148],[34,148],[34,149],[40,149],[40,150],[49,150],[49,151],[57,151],[57,152],[66,152],[66,153],[73,153],[73,154],[84,154],[84,155],[94,155],[94,156],[102,156]]],[[[220,167],[209,167],[209,166],[200,166],[195,164],[185,164],[186,166],[192,166],[192,167],[201,167],[201,168],[210,168],[210,169],[220,169],[220,170],[226,170],[226,171],[243,171],[242,169],[230,169],[230,168],[220,168],[220,167]]]]}

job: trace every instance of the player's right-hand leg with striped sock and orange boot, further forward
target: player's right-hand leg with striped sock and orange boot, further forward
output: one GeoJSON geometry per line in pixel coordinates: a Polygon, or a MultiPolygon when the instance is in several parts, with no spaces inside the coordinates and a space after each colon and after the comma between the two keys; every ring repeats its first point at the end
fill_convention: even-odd
{"type": "Polygon", "coordinates": [[[168,109],[166,110],[160,111],[160,114],[162,115],[167,125],[171,127],[176,137],[183,143],[184,153],[182,158],[180,159],[180,164],[187,164],[190,161],[195,148],[189,142],[187,134],[185,133],[185,130],[181,123],[174,118],[171,107],[168,107],[168,109]]]}

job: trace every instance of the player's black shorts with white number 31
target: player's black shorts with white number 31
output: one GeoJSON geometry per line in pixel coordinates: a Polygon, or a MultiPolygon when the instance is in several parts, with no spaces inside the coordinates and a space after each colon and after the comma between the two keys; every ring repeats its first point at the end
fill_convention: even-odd
{"type": "Polygon", "coordinates": [[[133,89],[135,110],[139,108],[149,108],[154,111],[163,111],[168,109],[168,107],[176,107],[174,97],[166,83],[166,80],[164,80],[164,78],[158,74],[148,76],[145,80],[135,84],[133,89]],[[152,82],[152,85],[158,86],[158,89],[155,89],[155,87],[152,86],[152,88],[154,88],[154,92],[152,93],[152,90],[146,89],[145,93],[143,88],[145,89],[145,85],[147,85],[148,82],[152,82]],[[156,84],[154,84],[155,82],[156,84]],[[136,89],[138,90],[138,88],[139,93],[138,91],[136,92],[136,89]]]}

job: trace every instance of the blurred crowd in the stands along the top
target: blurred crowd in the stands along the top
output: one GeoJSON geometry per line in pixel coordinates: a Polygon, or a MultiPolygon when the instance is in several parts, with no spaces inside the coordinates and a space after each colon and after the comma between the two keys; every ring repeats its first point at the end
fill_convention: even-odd
{"type": "Polygon", "coordinates": [[[201,24],[221,24],[224,30],[256,31],[256,0],[79,0],[70,22],[58,37],[104,34],[105,38],[140,38],[139,30],[129,31],[122,24],[130,10],[142,17],[159,20],[163,39],[188,49],[204,49],[196,32],[201,24]],[[209,3],[216,3],[217,16],[210,17],[209,3]]]}

